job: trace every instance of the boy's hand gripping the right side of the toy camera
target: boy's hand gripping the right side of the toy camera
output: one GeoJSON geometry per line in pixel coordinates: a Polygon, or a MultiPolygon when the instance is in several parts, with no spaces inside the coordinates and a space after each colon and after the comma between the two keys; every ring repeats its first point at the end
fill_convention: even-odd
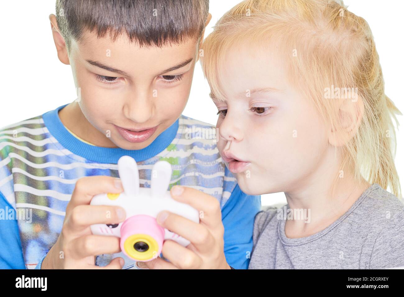
{"type": "Polygon", "coordinates": [[[183,247],[173,240],[166,240],[162,253],[164,258],[139,263],[140,268],[149,269],[231,269],[224,254],[224,227],[221,219],[219,201],[201,191],[182,186],[171,188],[173,199],[187,203],[202,211],[200,223],[194,223],[184,217],[168,211],[162,211],[157,217],[158,223],[168,230],[188,239],[191,244],[183,247]],[[164,213],[167,217],[164,219],[164,213]]]}

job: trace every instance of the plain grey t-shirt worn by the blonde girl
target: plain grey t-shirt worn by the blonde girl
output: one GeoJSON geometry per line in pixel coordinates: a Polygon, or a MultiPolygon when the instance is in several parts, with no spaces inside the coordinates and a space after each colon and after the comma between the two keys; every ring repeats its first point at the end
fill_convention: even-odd
{"type": "Polygon", "coordinates": [[[268,208],[255,216],[248,269],[404,266],[404,205],[376,183],[337,221],[311,236],[287,238],[279,210],[268,208]]]}

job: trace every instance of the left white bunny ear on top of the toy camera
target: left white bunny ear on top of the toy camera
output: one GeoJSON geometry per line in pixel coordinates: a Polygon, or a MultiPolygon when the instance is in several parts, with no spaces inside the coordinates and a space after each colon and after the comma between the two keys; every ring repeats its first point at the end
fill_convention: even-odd
{"type": "Polygon", "coordinates": [[[135,159],[129,156],[119,158],[118,172],[125,194],[130,196],[139,194],[139,170],[135,159]]]}

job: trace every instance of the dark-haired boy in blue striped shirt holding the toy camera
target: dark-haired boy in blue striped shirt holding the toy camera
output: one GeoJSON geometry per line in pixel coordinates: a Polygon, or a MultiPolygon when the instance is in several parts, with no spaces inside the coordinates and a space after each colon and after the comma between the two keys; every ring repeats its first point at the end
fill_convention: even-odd
{"type": "Polygon", "coordinates": [[[0,129],[0,209],[18,219],[0,218],[0,268],[136,268],[117,238],[88,227],[125,217],[119,207],[107,219],[88,205],[95,194],[122,191],[114,178],[123,155],[137,161],[144,187],[164,159],[172,185],[215,197],[227,263],[247,268],[260,197],[241,192],[215,137],[192,135],[213,127],[181,115],[210,18],[205,0],[57,0],[53,38],[78,98],[0,129]]]}

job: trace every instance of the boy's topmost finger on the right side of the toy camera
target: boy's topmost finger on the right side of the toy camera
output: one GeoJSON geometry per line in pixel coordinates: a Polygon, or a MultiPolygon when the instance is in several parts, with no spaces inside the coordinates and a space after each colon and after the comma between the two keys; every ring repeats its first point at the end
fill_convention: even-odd
{"type": "Polygon", "coordinates": [[[170,190],[171,197],[179,202],[189,204],[200,212],[200,221],[209,227],[222,223],[219,201],[199,190],[175,185],[170,190]],[[202,211],[202,213],[201,213],[202,211]]]}

